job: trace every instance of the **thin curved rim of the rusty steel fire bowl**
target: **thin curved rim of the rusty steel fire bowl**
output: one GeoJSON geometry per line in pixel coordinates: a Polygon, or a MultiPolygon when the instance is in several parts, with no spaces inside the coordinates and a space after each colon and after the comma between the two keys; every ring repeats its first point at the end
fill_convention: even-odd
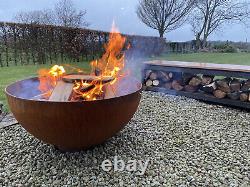
{"type": "Polygon", "coordinates": [[[136,78],[131,78],[131,79],[134,79],[136,81],[136,84],[138,85],[138,88],[135,89],[135,91],[133,92],[130,92],[128,94],[125,94],[125,95],[121,95],[121,96],[116,96],[116,97],[112,97],[112,98],[108,98],[108,99],[97,99],[97,100],[92,100],[92,101],[74,101],[74,102],[71,102],[71,101],[49,101],[49,100],[36,100],[36,99],[27,99],[27,98],[23,98],[23,97],[17,97],[16,95],[13,95],[11,94],[8,89],[15,85],[15,84],[18,84],[19,82],[22,82],[22,81],[27,81],[27,80],[32,80],[32,79],[38,79],[37,76],[34,76],[34,77],[29,77],[29,78],[25,78],[25,79],[21,79],[21,80],[17,80],[11,84],[8,84],[6,87],[5,87],[5,94],[13,97],[13,98],[16,98],[16,99],[20,99],[20,100],[24,100],[24,101],[29,101],[29,102],[40,102],[40,103],[97,103],[97,102],[102,102],[102,101],[107,101],[107,100],[113,100],[113,99],[117,99],[117,98],[123,98],[123,97],[126,97],[128,95],[132,95],[132,94],[135,94],[137,92],[142,92],[142,89],[143,89],[143,86],[142,86],[142,83],[137,80],[136,78]]]}

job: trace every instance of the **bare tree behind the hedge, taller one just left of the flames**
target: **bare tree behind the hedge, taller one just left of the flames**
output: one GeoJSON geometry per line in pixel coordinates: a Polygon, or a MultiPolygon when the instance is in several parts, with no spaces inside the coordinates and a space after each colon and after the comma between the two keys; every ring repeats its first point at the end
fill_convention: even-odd
{"type": "Polygon", "coordinates": [[[72,0],[61,0],[55,5],[57,23],[65,27],[86,27],[86,10],[77,10],[72,0]]]}

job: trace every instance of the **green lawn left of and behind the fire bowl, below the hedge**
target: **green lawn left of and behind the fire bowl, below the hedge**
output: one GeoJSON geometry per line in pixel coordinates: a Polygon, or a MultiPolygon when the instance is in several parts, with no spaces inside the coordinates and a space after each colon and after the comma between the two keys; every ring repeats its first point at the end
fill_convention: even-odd
{"type": "MultiPolygon", "coordinates": [[[[75,67],[84,68],[89,70],[89,64],[87,62],[70,64],[75,67]]],[[[0,102],[4,104],[4,110],[7,111],[7,101],[4,93],[5,87],[17,80],[33,77],[37,75],[39,69],[50,68],[51,64],[47,65],[25,65],[25,66],[10,66],[0,67],[0,102]]]]}

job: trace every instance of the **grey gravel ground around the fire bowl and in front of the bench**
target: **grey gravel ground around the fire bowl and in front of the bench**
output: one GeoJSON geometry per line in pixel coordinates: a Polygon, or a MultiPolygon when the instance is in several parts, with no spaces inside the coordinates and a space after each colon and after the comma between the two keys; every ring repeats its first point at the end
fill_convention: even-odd
{"type": "Polygon", "coordinates": [[[20,126],[0,129],[0,186],[249,186],[250,113],[143,93],[129,125],[105,144],[61,153],[20,126]],[[138,172],[101,163],[150,159],[138,172]]]}

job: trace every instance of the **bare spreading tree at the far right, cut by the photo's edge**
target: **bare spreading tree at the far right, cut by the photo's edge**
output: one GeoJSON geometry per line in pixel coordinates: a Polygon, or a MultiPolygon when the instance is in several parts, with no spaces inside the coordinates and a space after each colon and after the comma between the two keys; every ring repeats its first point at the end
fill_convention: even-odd
{"type": "Polygon", "coordinates": [[[197,49],[207,47],[208,37],[224,24],[245,22],[249,15],[247,1],[197,0],[190,21],[197,49]]]}

